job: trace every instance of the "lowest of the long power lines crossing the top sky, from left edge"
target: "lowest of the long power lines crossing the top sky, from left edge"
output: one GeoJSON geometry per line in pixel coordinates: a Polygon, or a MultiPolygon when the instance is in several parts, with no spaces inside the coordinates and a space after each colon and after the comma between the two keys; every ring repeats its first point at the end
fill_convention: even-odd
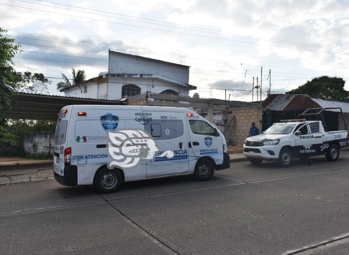
{"type": "MultiPolygon", "coordinates": [[[[145,29],[151,29],[151,30],[157,30],[157,31],[164,31],[164,32],[171,32],[171,33],[178,33],[178,34],[186,34],[186,35],[190,35],[190,36],[198,36],[198,37],[204,37],[204,38],[210,38],[210,39],[218,39],[218,40],[233,41],[233,42],[242,42],[242,43],[248,43],[248,44],[264,45],[264,46],[279,47],[279,48],[298,49],[298,50],[301,50],[301,51],[312,51],[312,52],[323,52],[323,53],[333,53],[333,54],[344,54],[344,55],[349,55],[349,53],[342,53],[342,52],[337,52],[337,53],[336,53],[336,52],[327,52],[327,51],[316,51],[316,50],[312,50],[312,49],[300,49],[300,48],[292,48],[292,47],[285,47],[285,46],[260,44],[260,43],[258,43],[258,42],[238,41],[238,40],[232,40],[232,39],[227,39],[227,38],[219,38],[219,37],[213,37],[213,36],[204,36],[204,35],[200,35],[200,34],[191,34],[191,33],[185,33],[185,32],[170,31],[170,30],[159,29],[159,28],[150,28],[150,27],[146,27],[146,26],[125,24],[125,23],[114,22],[114,21],[98,20],[98,19],[95,19],[95,18],[88,18],[88,17],[82,17],[82,16],[75,16],[75,15],[64,14],[64,13],[56,13],[56,12],[54,12],[54,11],[46,11],[46,10],[40,10],[40,9],[35,9],[35,8],[28,8],[28,7],[22,7],[22,6],[8,5],[8,4],[5,4],[5,3],[0,3],[0,5],[6,5],[6,6],[11,6],[11,7],[23,8],[23,9],[28,9],[28,10],[42,11],[42,12],[46,12],[46,13],[64,15],[64,16],[75,17],[75,18],[83,18],[83,19],[93,20],[93,21],[102,21],[102,22],[113,23],[113,24],[119,24],[119,25],[133,26],[133,27],[137,27],[137,28],[145,28],[145,29]]],[[[303,45],[303,46],[304,46],[304,45],[303,45]]]]}

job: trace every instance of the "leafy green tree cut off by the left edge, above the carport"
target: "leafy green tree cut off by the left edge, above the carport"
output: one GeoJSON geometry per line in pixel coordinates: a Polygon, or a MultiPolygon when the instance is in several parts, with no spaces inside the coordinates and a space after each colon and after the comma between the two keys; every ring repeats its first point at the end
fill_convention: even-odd
{"type": "Polygon", "coordinates": [[[13,68],[12,59],[21,52],[21,46],[14,44],[15,39],[7,37],[7,30],[0,27],[0,126],[6,125],[7,121],[1,117],[3,108],[10,108],[11,96],[15,95],[17,83],[21,77],[13,68]]]}

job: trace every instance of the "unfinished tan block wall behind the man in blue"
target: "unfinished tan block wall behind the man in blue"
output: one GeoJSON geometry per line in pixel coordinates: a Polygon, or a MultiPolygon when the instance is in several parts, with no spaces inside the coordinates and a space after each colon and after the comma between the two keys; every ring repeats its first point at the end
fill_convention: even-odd
{"type": "Polygon", "coordinates": [[[229,124],[232,116],[235,115],[235,123],[232,127],[232,123],[230,124],[227,132],[224,134],[225,139],[233,140],[235,144],[239,144],[240,142],[244,142],[248,137],[248,132],[251,127],[251,123],[254,122],[256,126],[259,128],[261,133],[262,129],[262,108],[233,108],[232,113],[228,114],[228,122],[229,124]],[[232,130],[231,130],[232,129],[232,130]]]}

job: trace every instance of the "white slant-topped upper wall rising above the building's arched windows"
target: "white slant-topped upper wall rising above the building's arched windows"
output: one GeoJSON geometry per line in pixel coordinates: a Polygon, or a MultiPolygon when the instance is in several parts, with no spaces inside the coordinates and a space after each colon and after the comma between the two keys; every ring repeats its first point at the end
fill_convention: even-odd
{"type": "Polygon", "coordinates": [[[189,67],[118,52],[109,53],[110,74],[156,74],[189,83],[189,67]]]}

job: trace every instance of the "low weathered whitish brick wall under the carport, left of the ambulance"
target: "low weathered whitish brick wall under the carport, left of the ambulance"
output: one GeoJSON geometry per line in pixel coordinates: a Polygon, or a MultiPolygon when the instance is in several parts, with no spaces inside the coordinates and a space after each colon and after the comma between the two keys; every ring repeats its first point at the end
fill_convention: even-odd
{"type": "Polygon", "coordinates": [[[27,154],[53,154],[54,132],[26,133],[23,147],[27,154]]]}

